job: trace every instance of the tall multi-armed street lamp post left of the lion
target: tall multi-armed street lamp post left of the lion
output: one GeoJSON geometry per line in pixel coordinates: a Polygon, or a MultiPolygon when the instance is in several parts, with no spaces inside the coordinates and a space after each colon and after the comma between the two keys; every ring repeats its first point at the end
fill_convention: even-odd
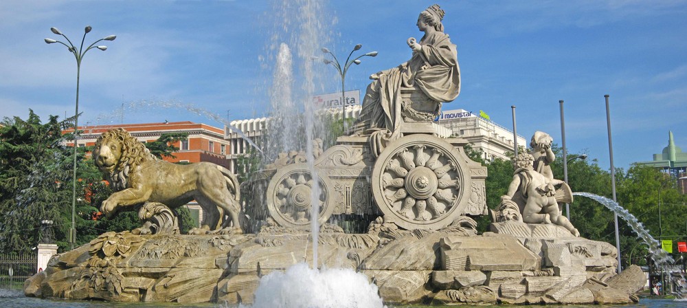
{"type": "Polygon", "coordinates": [[[86,34],[88,34],[88,32],[91,32],[91,29],[92,28],[90,25],[87,25],[86,28],[84,29],[84,36],[81,39],[81,45],[79,46],[78,49],[74,46],[74,44],[71,43],[71,41],[69,41],[69,38],[67,38],[67,36],[65,36],[65,34],[63,34],[62,32],[60,32],[60,30],[58,30],[57,28],[54,28],[54,27],[50,28],[50,31],[52,31],[52,33],[54,33],[54,34],[63,36],[67,40],[67,43],[69,43],[69,45],[67,45],[61,41],[56,41],[54,39],[45,39],[45,43],[48,43],[48,44],[60,43],[62,45],[65,45],[65,47],[67,47],[67,50],[69,50],[69,52],[71,52],[71,54],[74,54],[74,58],[76,58],[76,112],[74,114],[74,177],[72,179],[72,181],[74,182],[74,185],[72,186],[72,191],[71,191],[71,228],[69,228],[69,244],[71,245],[71,249],[74,249],[74,243],[76,243],[76,227],[75,227],[76,223],[74,221],[74,216],[76,214],[76,151],[78,148],[77,131],[78,131],[78,127],[79,127],[79,125],[78,125],[78,119],[79,119],[79,81],[80,81],[80,77],[81,77],[81,61],[83,60],[83,57],[86,54],[86,52],[88,52],[89,50],[92,50],[93,48],[98,48],[99,50],[102,50],[102,51],[105,51],[107,49],[107,46],[104,46],[104,45],[97,46],[97,45],[95,45],[96,43],[98,43],[100,41],[114,41],[115,39],[117,39],[117,36],[115,36],[115,35],[105,36],[104,38],[93,42],[91,45],[89,45],[89,47],[87,47],[84,50],[84,41],[86,39],[86,34]]]}

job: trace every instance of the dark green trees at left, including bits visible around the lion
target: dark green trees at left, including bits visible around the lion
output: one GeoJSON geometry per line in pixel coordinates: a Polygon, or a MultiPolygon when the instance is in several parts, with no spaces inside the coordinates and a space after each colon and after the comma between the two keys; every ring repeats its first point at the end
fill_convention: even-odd
{"type": "MultiPolygon", "coordinates": [[[[45,124],[32,110],[26,120],[5,118],[0,127],[0,252],[29,252],[41,241],[41,221],[52,220],[54,241],[69,248],[71,201],[74,185],[74,148],[67,146],[73,118],[45,124]]],[[[167,133],[146,146],[157,157],[172,157],[172,144],[188,137],[167,133]]],[[[113,190],[102,181],[100,170],[88,158],[93,148],[76,148],[76,245],[88,243],[107,231],[140,226],[137,212],[122,212],[113,219],[101,217],[100,204],[113,190]]],[[[177,209],[182,231],[194,226],[186,208],[177,209]]]]}

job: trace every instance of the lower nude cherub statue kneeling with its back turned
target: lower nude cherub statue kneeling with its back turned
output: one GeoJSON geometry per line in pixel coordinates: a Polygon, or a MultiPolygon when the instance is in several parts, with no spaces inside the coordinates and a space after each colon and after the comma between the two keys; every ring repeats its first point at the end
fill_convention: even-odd
{"type": "MultiPolygon", "coordinates": [[[[513,162],[515,174],[513,181],[508,186],[508,192],[501,199],[508,202],[511,199],[524,199],[522,208],[522,221],[525,223],[554,223],[561,225],[574,236],[580,236],[580,232],[561,215],[556,197],[555,186],[563,186],[570,191],[565,181],[546,177],[534,170],[534,157],[528,153],[520,153],[513,162]]],[[[516,201],[517,202],[517,201],[516,201]]]]}

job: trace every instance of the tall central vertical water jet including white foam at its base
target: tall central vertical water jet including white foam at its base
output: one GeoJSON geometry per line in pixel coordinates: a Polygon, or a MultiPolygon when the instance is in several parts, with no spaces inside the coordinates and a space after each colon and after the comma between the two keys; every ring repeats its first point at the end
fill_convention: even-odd
{"type": "MultiPolygon", "coordinates": [[[[288,146],[301,146],[292,150],[306,152],[308,169],[311,171],[313,186],[311,188],[311,239],[313,244],[313,263],[308,267],[306,263],[298,263],[289,267],[286,272],[272,272],[260,279],[260,285],[255,293],[253,307],[383,307],[383,301],[378,295],[376,285],[368,282],[368,278],[351,269],[318,269],[317,242],[319,239],[319,195],[320,187],[318,175],[315,173],[315,158],[313,157],[313,139],[326,134],[328,128],[317,121],[317,113],[311,104],[315,91],[322,91],[322,85],[315,81],[326,80],[318,69],[322,65],[313,67],[311,56],[319,52],[319,47],[328,41],[323,35],[325,25],[322,2],[317,0],[278,1],[275,14],[278,22],[279,34],[274,34],[272,49],[278,54],[274,58],[273,84],[271,98],[273,100],[273,118],[286,120],[283,124],[287,129],[293,129],[293,135],[284,135],[284,150],[288,146]],[[284,18],[279,18],[279,17],[284,18]],[[297,23],[292,26],[291,23],[297,23]],[[297,30],[298,33],[289,33],[297,30]],[[285,33],[284,33],[285,32],[285,33]],[[275,43],[274,40],[278,40],[275,43]],[[278,48],[276,47],[278,44],[278,48]],[[289,48],[291,46],[291,48],[289,48]],[[292,56],[293,52],[293,56],[292,56]],[[293,72],[300,73],[299,78],[293,78],[293,72]],[[295,81],[297,79],[297,82],[295,81]],[[299,87],[300,86],[300,87],[299,87]],[[302,102],[297,104],[295,102],[302,102]],[[293,113],[302,114],[293,116],[293,113]],[[297,120],[295,120],[297,119],[297,120]],[[293,122],[292,122],[293,120],[293,122]],[[304,132],[304,136],[303,136],[304,132]],[[293,138],[293,139],[289,139],[293,138]]],[[[267,57],[269,58],[269,57],[267,57]]],[[[273,131],[273,130],[272,130],[273,131]]]]}

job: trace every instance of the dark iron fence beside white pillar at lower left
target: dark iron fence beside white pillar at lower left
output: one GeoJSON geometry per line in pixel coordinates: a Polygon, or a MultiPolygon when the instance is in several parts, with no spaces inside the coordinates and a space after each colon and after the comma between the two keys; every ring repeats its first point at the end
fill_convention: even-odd
{"type": "Polygon", "coordinates": [[[0,289],[22,289],[36,274],[36,254],[0,254],[0,289]]]}

